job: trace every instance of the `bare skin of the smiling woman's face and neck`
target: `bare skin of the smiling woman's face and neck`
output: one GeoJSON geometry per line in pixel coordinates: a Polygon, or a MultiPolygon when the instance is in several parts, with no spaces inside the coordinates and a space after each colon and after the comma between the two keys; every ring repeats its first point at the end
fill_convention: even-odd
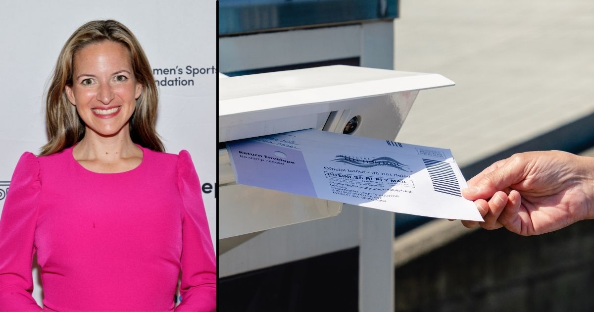
{"type": "Polygon", "coordinates": [[[72,149],[75,159],[91,171],[121,172],[138,166],[142,153],[129,144],[132,141],[128,121],[143,85],[135,78],[128,50],[111,41],[93,43],[75,53],[73,63],[72,82],[66,85],[66,94],[85,128],[90,130],[72,149]],[[89,153],[89,144],[106,137],[128,141],[130,150],[123,152],[129,152],[131,157],[123,157],[118,163],[102,163],[89,153]]]}

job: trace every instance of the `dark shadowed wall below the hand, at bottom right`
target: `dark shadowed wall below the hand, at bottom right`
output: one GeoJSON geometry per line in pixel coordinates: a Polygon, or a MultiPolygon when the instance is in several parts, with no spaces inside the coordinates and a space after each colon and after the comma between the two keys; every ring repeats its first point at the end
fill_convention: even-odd
{"type": "Polygon", "coordinates": [[[594,221],[479,230],[395,271],[396,311],[594,311],[594,221]]]}

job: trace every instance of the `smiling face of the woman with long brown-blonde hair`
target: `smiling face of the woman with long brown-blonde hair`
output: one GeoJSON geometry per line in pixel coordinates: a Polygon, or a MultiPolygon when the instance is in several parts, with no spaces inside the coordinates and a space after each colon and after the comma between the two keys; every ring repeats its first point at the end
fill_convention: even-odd
{"type": "Polygon", "coordinates": [[[74,55],[68,100],[76,106],[87,130],[102,136],[128,130],[128,121],[142,92],[136,81],[128,49],[103,41],[74,55]]]}

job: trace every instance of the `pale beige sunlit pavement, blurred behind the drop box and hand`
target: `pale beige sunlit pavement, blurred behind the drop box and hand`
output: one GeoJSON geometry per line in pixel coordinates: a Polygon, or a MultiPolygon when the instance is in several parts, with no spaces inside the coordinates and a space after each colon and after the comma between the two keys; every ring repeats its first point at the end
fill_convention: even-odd
{"type": "Polygon", "coordinates": [[[402,0],[394,36],[394,69],[456,82],[421,91],[396,140],[460,166],[594,112],[593,1],[402,0]]]}

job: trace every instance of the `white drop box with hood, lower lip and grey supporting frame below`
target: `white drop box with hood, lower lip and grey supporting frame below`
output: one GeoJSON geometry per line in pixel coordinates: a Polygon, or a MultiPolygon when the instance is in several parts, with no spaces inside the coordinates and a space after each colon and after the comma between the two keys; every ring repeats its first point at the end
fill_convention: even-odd
{"type": "Polygon", "coordinates": [[[358,247],[359,310],[393,310],[394,213],[235,184],[225,142],[307,128],[392,141],[419,90],[453,84],[344,65],[220,79],[219,277],[358,247]]]}

